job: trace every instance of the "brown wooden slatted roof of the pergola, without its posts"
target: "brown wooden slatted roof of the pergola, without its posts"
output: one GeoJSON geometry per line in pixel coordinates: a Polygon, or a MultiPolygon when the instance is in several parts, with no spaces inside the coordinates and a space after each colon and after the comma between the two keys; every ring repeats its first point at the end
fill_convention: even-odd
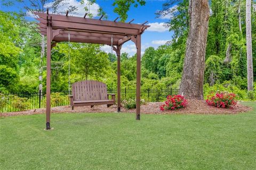
{"type": "Polygon", "coordinates": [[[52,27],[52,41],[94,43],[111,45],[122,45],[131,39],[131,36],[142,34],[150,26],[144,24],[124,23],[116,21],[106,21],[99,19],[89,19],[81,17],[71,17],[67,15],[47,14],[35,12],[39,18],[38,29],[42,35],[47,35],[47,24],[52,27]]]}

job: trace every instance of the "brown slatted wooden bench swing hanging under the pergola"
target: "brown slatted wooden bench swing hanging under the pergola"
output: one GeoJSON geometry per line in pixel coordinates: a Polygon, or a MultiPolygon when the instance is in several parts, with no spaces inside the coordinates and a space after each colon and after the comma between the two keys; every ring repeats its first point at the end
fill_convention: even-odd
{"type": "Polygon", "coordinates": [[[107,93],[107,85],[94,80],[84,80],[72,84],[70,106],[91,106],[107,104],[110,107],[115,103],[115,94],[107,93]],[[111,96],[111,99],[109,99],[111,96]]]}

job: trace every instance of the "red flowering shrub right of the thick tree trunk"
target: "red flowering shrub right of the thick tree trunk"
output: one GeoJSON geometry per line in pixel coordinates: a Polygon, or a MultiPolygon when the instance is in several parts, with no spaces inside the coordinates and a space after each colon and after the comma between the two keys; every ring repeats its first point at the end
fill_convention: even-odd
{"type": "Polygon", "coordinates": [[[209,106],[218,108],[229,108],[237,104],[237,95],[234,93],[220,92],[212,93],[207,96],[206,103],[209,106]]]}

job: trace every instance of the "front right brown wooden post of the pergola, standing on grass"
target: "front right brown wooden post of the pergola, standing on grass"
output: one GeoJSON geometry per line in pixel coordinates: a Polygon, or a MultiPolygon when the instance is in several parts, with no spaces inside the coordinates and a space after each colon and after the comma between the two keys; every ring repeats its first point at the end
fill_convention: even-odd
{"type": "Polygon", "coordinates": [[[137,35],[136,120],[140,120],[141,35],[137,35]]]}

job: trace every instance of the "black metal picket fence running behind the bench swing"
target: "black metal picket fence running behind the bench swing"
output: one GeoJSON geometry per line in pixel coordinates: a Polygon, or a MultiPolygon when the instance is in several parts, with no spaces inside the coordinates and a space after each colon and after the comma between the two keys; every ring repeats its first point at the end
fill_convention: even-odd
{"type": "MultiPolygon", "coordinates": [[[[108,93],[117,94],[117,90],[114,88],[108,89],[108,93]]],[[[178,94],[177,88],[166,88],[162,90],[157,89],[141,89],[141,99],[145,99],[147,102],[159,102],[164,101],[167,95],[178,94]]],[[[39,91],[38,93],[4,93],[0,92],[0,112],[11,112],[44,108],[46,105],[46,93],[39,91]]],[[[69,104],[68,91],[52,92],[51,93],[51,105],[55,106],[67,106],[69,104]]],[[[121,100],[135,99],[135,88],[122,88],[121,100]]]]}

